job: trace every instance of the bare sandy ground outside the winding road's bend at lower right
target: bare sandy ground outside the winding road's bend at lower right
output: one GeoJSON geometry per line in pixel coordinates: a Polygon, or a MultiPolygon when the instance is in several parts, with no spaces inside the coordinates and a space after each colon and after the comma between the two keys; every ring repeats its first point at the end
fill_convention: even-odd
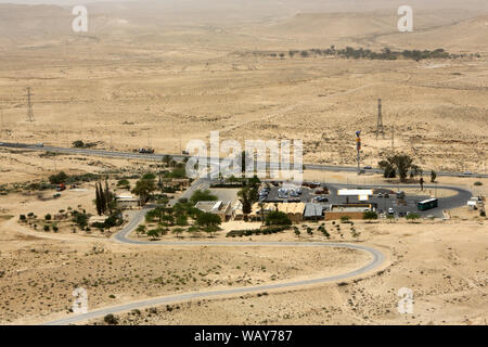
{"type": "Polygon", "coordinates": [[[369,244],[391,252],[385,271],[341,285],[179,303],[117,317],[121,324],[487,324],[486,224],[360,228],[369,244]],[[411,314],[397,311],[401,287],[413,291],[411,314]]]}

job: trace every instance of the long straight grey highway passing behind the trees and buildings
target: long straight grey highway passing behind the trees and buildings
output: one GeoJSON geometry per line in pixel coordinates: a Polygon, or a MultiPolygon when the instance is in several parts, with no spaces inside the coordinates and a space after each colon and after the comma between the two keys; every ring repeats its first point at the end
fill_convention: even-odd
{"type": "MultiPolygon", "coordinates": [[[[22,149],[28,151],[44,151],[44,152],[55,152],[55,153],[70,153],[80,155],[94,155],[94,156],[106,156],[106,157],[121,157],[128,159],[144,159],[144,160],[162,160],[166,154],[139,154],[130,152],[114,152],[114,151],[101,151],[101,150],[87,150],[87,149],[65,149],[55,146],[36,146],[26,143],[8,143],[0,142],[0,146],[10,149],[22,149]]],[[[184,155],[174,155],[168,154],[176,159],[183,159],[184,155]]],[[[211,159],[210,162],[216,162],[217,159],[211,159]]],[[[355,166],[334,166],[334,165],[318,165],[318,164],[305,164],[306,169],[323,170],[323,171],[346,171],[356,172],[357,167],[355,166]]],[[[383,171],[378,168],[373,168],[365,170],[367,172],[382,174],[383,171]]],[[[475,174],[464,175],[463,172],[448,172],[441,171],[437,172],[437,176],[451,176],[451,177],[476,177],[476,178],[488,178],[487,174],[475,174]]]]}

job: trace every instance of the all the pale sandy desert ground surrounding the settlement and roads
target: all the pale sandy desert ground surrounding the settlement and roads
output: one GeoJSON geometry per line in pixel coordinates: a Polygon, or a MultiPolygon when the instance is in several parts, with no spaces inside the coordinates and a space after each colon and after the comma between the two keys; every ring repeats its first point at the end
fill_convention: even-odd
{"type": "MultiPolygon", "coordinates": [[[[409,35],[396,28],[396,3],[370,1],[384,9],[372,12],[370,2],[354,10],[343,1],[320,2],[300,8],[290,1],[286,11],[257,2],[232,15],[202,9],[201,17],[167,11],[159,11],[163,17],[147,17],[133,7],[104,4],[92,9],[88,35],[70,31],[66,9],[1,4],[0,142],[72,146],[82,140],[95,149],[153,146],[159,153],[180,153],[190,140],[208,141],[209,131],[219,130],[221,140],[241,143],[301,139],[306,163],[354,165],[355,131],[362,130],[363,165],[376,166],[395,150],[412,155],[427,176],[431,169],[486,172],[486,1],[463,1],[462,9],[451,0],[449,5],[442,1],[446,9],[415,1],[415,31],[409,35]],[[268,54],[333,44],[374,51],[445,48],[466,55],[415,62],[268,54]],[[33,90],[33,123],[26,121],[27,87],[33,90]],[[376,139],[378,98],[386,133],[376,139]]],[[[42,218],[67,207],[94,208],[91,183],[63,192],[59,200],[51,198],[52,191],[26,193],[25,184],[47,181],[60,170],[124,175],[149,169],[150,163],[139,160],[0,149],[0,193],[8,192],[0,195],[0,323],[69,314],[72,292],[81,285],[94,308],[333,274],[368,260],[342,249],[128,246],[103,235],[65,229],[44,233],[17,223],[18,215],[29,211],[42,218]]],[[[307,171],[306,177],[385,183],[377,175],[307,171]]],[[[488,195],[486,179],[437,181],[488,195]]],[[[333,241],[360,242],[390,255],[387,269],[347,285],[178,304],[120,319],[128,324],[486,324],[486,219],[466,208],[451,216],[445,222],[356,222],[358,240],[351,239],[349,227],[342,226],[341,236],[329,224],[333,241]],[[401,287],[414,293],[412,314],[396,310],[401,287]]],[[[252,239],[297,240],[293,231],[252,239]]],[[[303,232],[299,240],[324,237],[303,232]]]]}

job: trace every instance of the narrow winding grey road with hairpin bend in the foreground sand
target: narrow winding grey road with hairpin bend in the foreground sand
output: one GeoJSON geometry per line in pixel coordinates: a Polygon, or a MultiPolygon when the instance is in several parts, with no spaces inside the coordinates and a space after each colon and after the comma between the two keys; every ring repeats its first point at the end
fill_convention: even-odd
{"type": "Polygon", "coordinates": [[[328,282],[334,282],[339,280],[346,280],[352,277],[361,275],[363,273],[373,271],[380,268],[384,261],[385,256],[383,253],[375,248],[371,248],[362,245],[352,245],[352,244],[344,244],[344,243],[300,243],[300,242],[150,242],[150,241],[138,241],[138,240],[129,240],[127,236],[137,228],[137,226],[142,221],[146,211],[150,208],[144,208],[140,210],[136,216],[129,221],[129,223],[117,234],[114,235],[114,240],[116,242],[129,243],[129,244],[151,244],[151,245],[191,245],[191,246],[272,246],[272,247],[341,247],[348,249],[356,249],[360,252],[365,252],[371,255],[372,259],[365,266],[357,270],[349,271],[347,273],[332,275],[332,277],[322,277],[310,280],[299,280],[299,281],[290,281],[283,283],[274,283],[274,284],[264,284],[264,285],[255,285],[248,287],[234,287],[234,288],[224,288],[224,290],[215,290],[215,291],[206,291],[206,292],[190,292],[183,294],[176,294],[170,296],[156,297],[145,300],[133,301],[129,304],[123,304],[113,307],[100,308],[92,310],[88,313],[70,316],[67,318],[54,320],[51,322],[47,322],[46,325],[64,325],[64,324],[74,324],[79,323],[89,319],[100,318],[106,316],[108,313],[119,313],[124,311],[129,311],[137,308],[144,308],[150,306],[159,306],[167,303],[178,303],[185,301],[191,299],[201,299],[201,298],[209,298],[221,295],[237,295],[245,294],[251,292],[260,292],[260,291],[271,291],[271,290],[283,290],[295,286],[304,286],[304,285],[312,285],[312,284],[321,284],[328,282]]]}

